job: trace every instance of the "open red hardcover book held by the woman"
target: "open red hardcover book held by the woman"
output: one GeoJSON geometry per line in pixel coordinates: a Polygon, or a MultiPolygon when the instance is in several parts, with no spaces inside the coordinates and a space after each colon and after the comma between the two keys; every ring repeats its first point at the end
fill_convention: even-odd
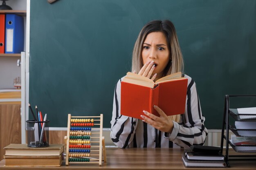
{"type": "Polygon", "coordinates": [[[121,115],[141,119],[146,110],[159,116],[157,105],[168,116],[183,114],[188,79],[181,72],[153,80],[128,72],[121,82],[121,115]]]}

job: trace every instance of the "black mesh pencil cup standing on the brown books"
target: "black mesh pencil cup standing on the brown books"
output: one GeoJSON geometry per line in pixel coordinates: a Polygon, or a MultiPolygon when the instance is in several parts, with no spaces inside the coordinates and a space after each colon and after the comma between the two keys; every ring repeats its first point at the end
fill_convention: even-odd
{"type": "Polygon", "coordinates": [[[27,120],[27,146],[47,147],[49,146],[49,120],[34,121],[27,120]]]}

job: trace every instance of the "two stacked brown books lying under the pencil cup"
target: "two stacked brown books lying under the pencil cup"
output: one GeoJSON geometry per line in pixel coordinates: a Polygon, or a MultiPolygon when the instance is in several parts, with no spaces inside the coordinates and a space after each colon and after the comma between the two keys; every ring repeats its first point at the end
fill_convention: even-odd
{"type": "Polygon", "coordinates": [[[51,144],[42,148],[10,144],[4,150],[5,166],[61,166],[64,144],[51,144]]]}

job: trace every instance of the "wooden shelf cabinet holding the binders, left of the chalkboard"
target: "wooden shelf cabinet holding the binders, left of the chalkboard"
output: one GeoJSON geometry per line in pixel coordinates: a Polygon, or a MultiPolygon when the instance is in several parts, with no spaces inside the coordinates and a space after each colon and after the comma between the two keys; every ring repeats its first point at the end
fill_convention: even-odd
{"type": "MultiPolygon", "coordinates": [[[[24,3],[24,2],[23,2],[24,3]]],[[[12,5],[12,7],[15,5],[12,5]]],[[[17,6],[16,6],[17,7],[17,6]]],[[[15,13],[24,17],[26,23],[26,10],[0,10],[0,14],[15,13]]],[[[26,24],[24,25],[26,26],[26,24]]],[[[25,44],[25,42],[24,42],[25,44]]],[[[25,51],[25,49],[24,49],[25,51]]],[[[21,77],[20,68],[17,67],[17,60],[20,59],[18,54],[0,53],[0,89],[14,88],[13,79],[21,77]]],[[[7,99],[11,97],[5,97],[7,99]]],[[[19,97],[21,98],[20,95],[19,97]]],[[[4,147],[9,144],[21,144],[21,102],[5,102],[0,96],[0,159],[3,159],[5,153],[4,147]]]]}

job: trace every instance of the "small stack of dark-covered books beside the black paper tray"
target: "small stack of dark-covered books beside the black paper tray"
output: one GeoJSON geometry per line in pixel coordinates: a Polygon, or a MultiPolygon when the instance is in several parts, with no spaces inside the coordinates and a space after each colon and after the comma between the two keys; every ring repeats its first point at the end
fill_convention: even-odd
{"type": "Polygon", "coordinates": [[[226,167],[220,148],[213,146],[191,146],[184,150],[182,161],[186,167],[226,167]]]}

